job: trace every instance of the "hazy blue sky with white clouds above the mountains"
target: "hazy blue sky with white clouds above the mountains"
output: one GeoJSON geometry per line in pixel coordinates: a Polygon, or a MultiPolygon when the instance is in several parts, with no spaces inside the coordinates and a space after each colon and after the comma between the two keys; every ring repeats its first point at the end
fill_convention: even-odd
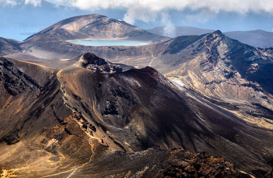
{"type": "Polygon", "coordinates": [[[109,18],[125,20],[143,29],[172,25],[219,29],[222,32],[255,29],[272,32],[273,29],[273,1],[271,0],[48,1],[67,5],[73,9],[65,11],[58,6],[49,7],[42,0],[0,0],[0,3],[5,4],[2,10],[5,13],[0,17],[0,22],[2,20],[2,26],[7,24],[11,27],[40,28],[72,16],[99,13],[109,18]],[[12,14],[16,14],[17,21],[12,14]]]}

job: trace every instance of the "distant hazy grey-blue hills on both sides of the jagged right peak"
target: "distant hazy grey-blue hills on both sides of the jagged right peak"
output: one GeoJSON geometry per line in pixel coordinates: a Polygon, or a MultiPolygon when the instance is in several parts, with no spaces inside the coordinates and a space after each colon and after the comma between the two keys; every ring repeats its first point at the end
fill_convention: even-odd
{"type": "MultiPolygon", "coordinates": [[[[173,26],[173,27],[156,27],[153,29],[147,29],[146,31],[158,35],[167,34],[169,37],[174,38],[182,35],[202,35],[213,32],[211,29],[202,29],[190,26],[173,26]],[[173,30],[173,32],[166,32],[166,30],[173,30]]],[[[273,47],[273,32],[267,32],[264,30],[252,30],[252,31],[232,31],[224,32],[227,37],[234,40],[238,40],[241,43],[245,43],[251,46],[256,46],[260,48],[273,47]]]]}

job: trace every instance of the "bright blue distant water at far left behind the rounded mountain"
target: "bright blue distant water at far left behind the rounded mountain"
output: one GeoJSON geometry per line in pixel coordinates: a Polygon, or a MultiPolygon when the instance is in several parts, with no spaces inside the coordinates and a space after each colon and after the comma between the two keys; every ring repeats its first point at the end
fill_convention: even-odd
{"type": "Polygon", "coordinates": [[[39,32],[41,29],[34,28],[0,28],[0,37],[23,41],[27,37],[39,32]]]}

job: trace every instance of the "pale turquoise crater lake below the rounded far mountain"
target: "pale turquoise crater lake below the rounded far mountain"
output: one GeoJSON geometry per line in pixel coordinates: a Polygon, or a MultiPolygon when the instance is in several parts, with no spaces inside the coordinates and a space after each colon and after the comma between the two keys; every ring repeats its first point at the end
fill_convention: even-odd
{"type": "Polygon", "coordinates": [[[75,40],[69,42],[86,46],[143,46],[150,44],[135,40],[75,40]]]}

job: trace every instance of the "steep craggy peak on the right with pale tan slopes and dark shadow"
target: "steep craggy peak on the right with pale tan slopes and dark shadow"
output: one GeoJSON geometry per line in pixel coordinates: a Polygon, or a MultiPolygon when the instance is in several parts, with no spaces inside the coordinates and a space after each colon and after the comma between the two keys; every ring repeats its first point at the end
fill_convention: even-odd
{"type": "Polygon", "coordinates": [[[188,87],[209,97],[259,102],[272,109],[270,49],[248,46],[220,31],[190,39],[194,41],[174,38],[165,42],[165,50],[155,49],[169,66],[168,77],[179,77],[188,87]],[[188,45],[189,41],[193,43],[188,45]]]}

